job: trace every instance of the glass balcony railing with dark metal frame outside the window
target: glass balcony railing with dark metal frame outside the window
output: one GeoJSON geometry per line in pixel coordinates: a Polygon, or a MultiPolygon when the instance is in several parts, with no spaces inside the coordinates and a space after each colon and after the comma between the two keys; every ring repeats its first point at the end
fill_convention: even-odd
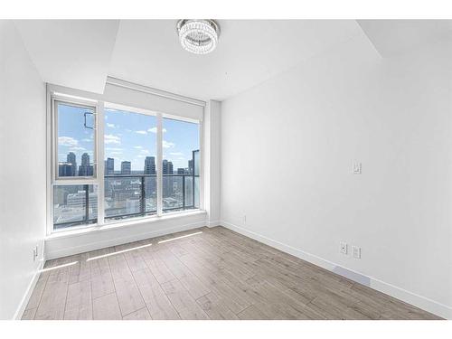
{"type": "MultiPolygon", "coordinates": [[[[105,220],[121,220],[157,212],[155,174],[105,175],[105,220]]],[[[97,185],[56,185],[53,187],[53,228],[87,225],[98,221],[97,185]]],[[[199,208],[199,174],[164,174],[164,213],[199,208]]]]}

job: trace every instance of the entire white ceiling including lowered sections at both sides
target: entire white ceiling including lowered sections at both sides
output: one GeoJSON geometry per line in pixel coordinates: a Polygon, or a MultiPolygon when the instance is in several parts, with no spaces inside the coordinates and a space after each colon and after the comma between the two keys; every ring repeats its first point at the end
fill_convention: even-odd
{"type": "Polygon", "coordinates": [[[217,49],[185,52],[176,20],[16,21],[42,80],[102,92],[107,75],[226,99],[363,34],[382,57],[451,37],[452,21],[220,20],[217,49]]]}

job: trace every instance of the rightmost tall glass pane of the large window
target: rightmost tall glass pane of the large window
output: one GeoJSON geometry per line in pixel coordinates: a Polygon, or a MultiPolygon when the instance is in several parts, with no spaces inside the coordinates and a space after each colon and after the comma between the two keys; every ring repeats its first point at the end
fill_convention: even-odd
{"type": "Polygon", "coordinates": [[[163,212],[193,209],[199,201],[194,180],[199,177],[199,133],[197,123],[163,119],[163,212]]]}

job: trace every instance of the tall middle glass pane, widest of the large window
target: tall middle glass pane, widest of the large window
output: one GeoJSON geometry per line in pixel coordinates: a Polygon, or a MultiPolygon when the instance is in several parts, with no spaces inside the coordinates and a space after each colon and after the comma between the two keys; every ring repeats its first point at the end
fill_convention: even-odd
{"type": "Polygon", "coordinates": [[[105,109],[105,217],[156,213],[156,117],[105,109]]]}

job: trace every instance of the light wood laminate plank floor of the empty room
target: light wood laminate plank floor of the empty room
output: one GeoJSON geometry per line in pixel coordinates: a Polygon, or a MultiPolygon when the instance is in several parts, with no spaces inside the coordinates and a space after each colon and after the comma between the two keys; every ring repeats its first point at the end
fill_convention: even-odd
{"type": "Polygon", "coordinates": [[[223,227],[44,268],[23,319],[438,319],[223,227]]]}

